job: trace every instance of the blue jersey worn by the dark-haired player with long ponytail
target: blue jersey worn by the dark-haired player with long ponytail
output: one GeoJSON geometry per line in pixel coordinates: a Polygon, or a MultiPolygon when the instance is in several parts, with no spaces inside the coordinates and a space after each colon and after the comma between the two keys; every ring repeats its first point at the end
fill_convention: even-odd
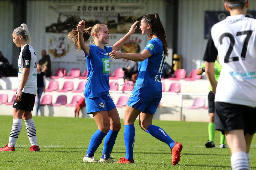
{"type": "Polygon", "coordinates": [[[165,61],[163,44],[153,38],[145,47],[151,56],[140,62],[135,87],[132,94],[141,97],[162,98],[162,71],[165,61]]]}

